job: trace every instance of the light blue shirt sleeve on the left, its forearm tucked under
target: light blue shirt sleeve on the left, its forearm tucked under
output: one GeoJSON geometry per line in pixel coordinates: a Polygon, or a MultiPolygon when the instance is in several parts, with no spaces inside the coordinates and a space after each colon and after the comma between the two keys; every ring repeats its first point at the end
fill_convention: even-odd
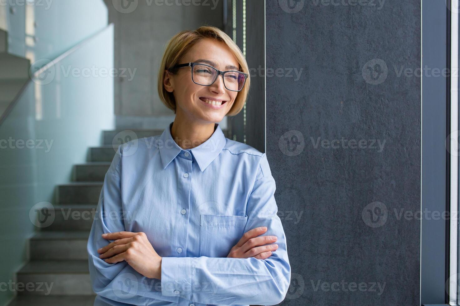
{"type": "Polygon", "coordinates": [[[94,292],[109,301],[110,305],[149,305],[153,299],[177,302],[177,298],[161,297],[160,289],[153,286],[153,279],[145,278],[126,261],[107,263],[99,258],[98,249],[113,240],[102,238],[104,233],[124,231],[125,220],[134,211],[123,211],[121,203],[122,145],[119,146],[104,178],[96,215],[87,243],[89,271],[94,292]]]}

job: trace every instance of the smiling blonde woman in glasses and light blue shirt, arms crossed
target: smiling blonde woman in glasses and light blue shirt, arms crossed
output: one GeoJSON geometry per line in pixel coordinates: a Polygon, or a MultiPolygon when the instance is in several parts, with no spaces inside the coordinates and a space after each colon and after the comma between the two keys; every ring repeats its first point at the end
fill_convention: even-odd
{"type": "Polygon", "coordinates": [[[284,300],[291,267],[267,157],[217,123],[242,110],[249,83],[218,28],[169,41],[158,86],[176,117],[120,145],[105,175],[87,245],[95,305],[284,300]]]}

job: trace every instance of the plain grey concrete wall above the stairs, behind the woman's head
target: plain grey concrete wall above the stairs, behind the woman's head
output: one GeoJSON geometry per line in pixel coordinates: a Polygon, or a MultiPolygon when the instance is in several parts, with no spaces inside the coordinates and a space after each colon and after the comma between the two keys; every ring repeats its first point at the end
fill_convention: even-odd
{"type": "MultiPolygon", "coordinates": [[[[126,13],[115,8],[113,2],[105,0],[109,22],[115,23],[115,67],[128,69],[123,74],[126,77],[115,78],[115,114],[150,118],[173,116],[173,111],[161,103],[156,89],[164,46],[168,39],[184,29],[204,24],[222,28],[223,0],[138,0],[137,7],[126,13]],[[168,6],[165,2],[174,5],[168,6]],[[189,6],[184,5],[188,3],[189,6]]],[[[131,10],[130,7],[128,11],[131,10]]]]}

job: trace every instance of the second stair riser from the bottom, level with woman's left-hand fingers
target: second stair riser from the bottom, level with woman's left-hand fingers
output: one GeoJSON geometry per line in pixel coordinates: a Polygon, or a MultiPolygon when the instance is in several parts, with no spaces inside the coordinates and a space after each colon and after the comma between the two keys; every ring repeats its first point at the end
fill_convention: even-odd
{"type": "Polygon", "coordinates": [[[32,260],[88,259],[88,231],[42,231],[29,240],[32,260]]]}

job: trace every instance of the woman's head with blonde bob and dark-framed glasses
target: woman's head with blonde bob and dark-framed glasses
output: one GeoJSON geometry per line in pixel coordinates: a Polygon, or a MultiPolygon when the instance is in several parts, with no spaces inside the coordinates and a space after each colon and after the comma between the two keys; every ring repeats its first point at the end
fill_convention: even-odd
{"type": "MultiPolygon", "coordinates": [[[[218,28],[200,27],[195,31],[176,34],[166,46],[160,67],[158,93],[161,101],[174,111],[176,118],[193,114],[208,119],[211,119],[209,116],[217,117],[217,120],[210,121],[220,122],[225,115],[238,114],[246,102],[251,83],[246,60],[233,40],[218,28]],[[184,66],[187,68],[179,70],[182,63],[186,63],[184,66]],[[230,84],[230,81],[224,84],[228,78],[224,78],[223,74],[219,78],[215,68],[230,70],[226,73],[228,78],[234,77],[235,71],[245,73],[240,91],[225,90],[225,84],[230,84]],[[207,77],[208,83],[203,83],[202,75],[205,73],[210,76],[207,77]],[[206,108],[195,107],[200,104],[200,98],[228,103],[218,108],[219,112],[205,112],[206,108]]],[[[239,81],[241,83],[241,79],[239,81]]]]}

